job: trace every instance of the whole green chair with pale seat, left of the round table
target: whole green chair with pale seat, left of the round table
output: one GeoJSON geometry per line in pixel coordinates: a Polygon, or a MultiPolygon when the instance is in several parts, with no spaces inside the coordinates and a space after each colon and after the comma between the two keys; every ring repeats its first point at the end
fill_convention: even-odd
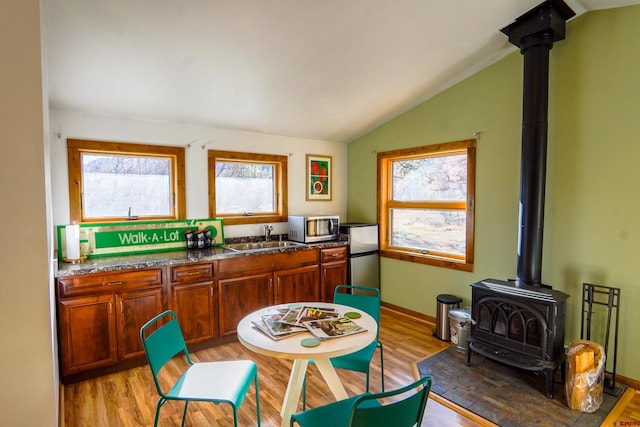
{"type": "Polygon", "coordinates": [[[238,409],[251,386],[251,382],[255,384],[257,425],[260,425],[258,367],[253,361],[193,363],[176,314],[171,310],[160,313],[145,323],[140,328],[140,339],[160,395],[154,426],[158,425],[162,405],[169,400],[181,400],[185,402],[182,414],[183,427],[189,401],[230,404],[233,408],[233,422],[237,427],[238,409]],[[167,362],[180,353],[184,353],[190,366],[169,390],[165,391],[160,384],[158,375],[167,362]]]}

